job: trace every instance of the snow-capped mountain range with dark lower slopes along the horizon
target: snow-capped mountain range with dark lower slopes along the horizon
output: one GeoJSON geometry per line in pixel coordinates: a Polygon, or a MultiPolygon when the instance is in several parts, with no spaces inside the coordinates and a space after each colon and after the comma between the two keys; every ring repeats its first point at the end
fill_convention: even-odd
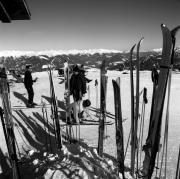
{"type": "MultiPolygon", "coordinates": [[[[162,49],[154,49],[140,53],[141,70],[151,70],[153,65],[159,66],[162,49]]],[[[4,51],[0,52],[0,64],[4,64],[7,69],[17,69],[23,71],[26,64],[32,64],[34,71],[42,71],[42,66],[53,61],[56,68],[62,68],[64,60],[70,64],[83,64],[87,67],[99,68],[101,61],[106,59],[109,63],[109,70],[128,70],[129,52],[118,50],[49,50],[42,52],[33,51],[4,51]],[[41,58],[46,55],[47,60],[41,58]]],[[[180,48],[176,49],[174,70],[180,70],[180,48]]],[[[133,54],[133,65],[135,67],[136,53],[133,54]]]]}

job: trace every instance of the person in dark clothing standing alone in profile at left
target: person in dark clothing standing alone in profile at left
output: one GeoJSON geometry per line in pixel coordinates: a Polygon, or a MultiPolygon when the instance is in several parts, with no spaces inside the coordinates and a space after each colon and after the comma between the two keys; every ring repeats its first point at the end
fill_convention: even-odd
{"type": "Polygon", "coordinates": [[[27,107],[34,107],[34,105],[36,104],[33,102],[33,98],[34,98],[33,83],[37,81],[37,78],[33,80],[31,73],[32,73],[32,66],[31,64],[27,64],[26,71],[24,74],[24,86],[28,92],[27,107]]]}

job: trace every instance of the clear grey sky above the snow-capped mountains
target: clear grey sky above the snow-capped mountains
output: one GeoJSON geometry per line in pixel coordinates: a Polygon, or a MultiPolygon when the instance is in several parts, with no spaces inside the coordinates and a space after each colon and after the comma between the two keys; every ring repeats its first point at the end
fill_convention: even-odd
{"type": "MultiPolygon", "coordinates": [[[[180,25],[180,0],[26,0],[29,21],[0,23],[0,51],[162,47],[160,25],[180,25]]],[[[177,45],[180,45],[180,33],[177,45]]]]}

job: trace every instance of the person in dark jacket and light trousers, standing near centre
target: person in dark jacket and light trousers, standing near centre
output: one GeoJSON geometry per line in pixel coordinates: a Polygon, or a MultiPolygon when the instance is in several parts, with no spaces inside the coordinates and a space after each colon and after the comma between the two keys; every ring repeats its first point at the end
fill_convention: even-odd
{"type": "Polygon", "coordinates": [[[76,122],[79,118],[83,117],[82,110],[82,97],[84,97],[86,93],[86,80],[84,75],[80,72],[79,67],[76,65],[73,68],[73,74],[70,79],[70,95],[73,95],[74,99],[74,117],[76,122]]]}

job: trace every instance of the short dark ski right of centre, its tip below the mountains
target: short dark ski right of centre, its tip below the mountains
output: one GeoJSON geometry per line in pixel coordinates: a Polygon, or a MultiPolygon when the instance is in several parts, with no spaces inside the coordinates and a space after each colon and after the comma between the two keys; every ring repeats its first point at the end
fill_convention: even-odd
{"type": "Polygon", "coordinates": [[[124,134],[122,126],[122,109],[121,109],[121,94],[120,94],[120,78],[116,81],[112,80],[114,88],[114,106],[115,106],[115,127],[116,127],[116,146],[117,146],[117,161],[119,172],[124,176],[124,134]]]}

